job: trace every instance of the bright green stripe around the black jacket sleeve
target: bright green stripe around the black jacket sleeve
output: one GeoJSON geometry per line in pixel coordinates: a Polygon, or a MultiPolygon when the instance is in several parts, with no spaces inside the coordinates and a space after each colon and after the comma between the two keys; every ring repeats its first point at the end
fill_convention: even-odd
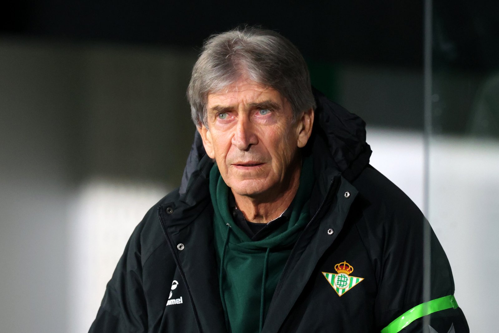
{"type": "Polygon", "coordinates": [[[396,320],[381,330],[381,333],[397,333],[418,318],[450,308],[458,308],[458,303],[456,302],[454,295],[444,296],[439,299],[422,303],[399,316],[396,320]]]}

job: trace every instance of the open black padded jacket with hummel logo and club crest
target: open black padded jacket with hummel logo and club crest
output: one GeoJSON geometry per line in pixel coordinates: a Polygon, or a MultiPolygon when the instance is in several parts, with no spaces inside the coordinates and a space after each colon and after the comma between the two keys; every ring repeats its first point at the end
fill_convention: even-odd
{"type": "MultiPolygon", "coordinates": [[[[383,333],[429,326],[469,332],[435,234],[416,205],[369,165],[364,122],[319,93],[316,100],[304,152],[314,161],[312,218],[288,258],[262,332],[387,326],[383,333]]],[[[226,332],[213,246],[212,165],[196,135],[182,186],[135,229],[90,332],[226,332]]]]}

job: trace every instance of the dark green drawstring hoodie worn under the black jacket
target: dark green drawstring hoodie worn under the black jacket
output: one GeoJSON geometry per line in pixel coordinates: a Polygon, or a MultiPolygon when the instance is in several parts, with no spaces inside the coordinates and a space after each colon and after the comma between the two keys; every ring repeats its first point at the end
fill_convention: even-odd
{"type": "Polygon", "coordinates": [[[306,158],[289,220],[265,238],[251,241],[234,223],[229,212],[230,189],[217,164],[213,166],[210,194],[215,210],[215,249],[220,269],[220,297],[230,332],[261,332],[264,314],[289,253],[309,221],[312,186],[312,159],[306,158]]]}

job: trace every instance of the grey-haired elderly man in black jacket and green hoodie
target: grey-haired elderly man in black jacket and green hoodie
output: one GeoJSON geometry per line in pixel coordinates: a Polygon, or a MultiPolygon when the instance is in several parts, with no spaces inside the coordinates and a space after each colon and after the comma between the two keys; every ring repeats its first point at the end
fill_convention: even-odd
{"type": "Polygon", "coordinates": [[[134,231],[90,332],[469,332],[428,223],[287,39],[212,36],[188,98],[182,186],[134,231]]]}

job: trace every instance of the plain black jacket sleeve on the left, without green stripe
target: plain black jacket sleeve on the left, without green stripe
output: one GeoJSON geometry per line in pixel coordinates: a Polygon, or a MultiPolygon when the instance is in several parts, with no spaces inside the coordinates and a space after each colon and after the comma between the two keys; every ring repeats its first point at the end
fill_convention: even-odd
{"type": "Polygon", "coordinates": [[[147,332],[139,224],[125,247],[89,333],[147,332]]]}

